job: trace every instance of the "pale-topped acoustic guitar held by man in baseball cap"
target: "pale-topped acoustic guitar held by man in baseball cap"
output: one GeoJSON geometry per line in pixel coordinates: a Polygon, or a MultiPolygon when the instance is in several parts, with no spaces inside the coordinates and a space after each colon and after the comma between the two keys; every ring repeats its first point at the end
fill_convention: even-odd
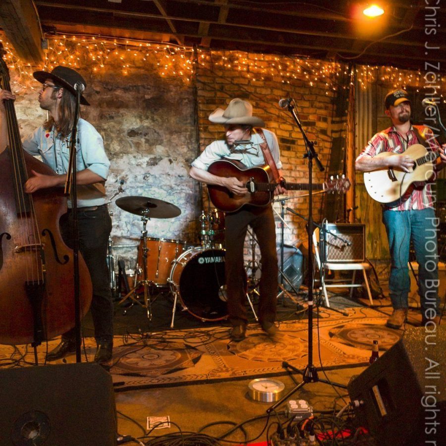
{"type": "MultiPolygon", "coordinates": [[[[394,152],[381,152],[376,158],[395,155],[394,152]]],[[[421,144],[410,146],[404,155],[413,160],[412,171],[389,167],[364,172],[364,184],[368,194],[376,201],[393,207],[409,197],[404,197],[409,187],[416,181],[427,182],[434,173],[434,164],[439,152],[429,152],[421,144]]]]}

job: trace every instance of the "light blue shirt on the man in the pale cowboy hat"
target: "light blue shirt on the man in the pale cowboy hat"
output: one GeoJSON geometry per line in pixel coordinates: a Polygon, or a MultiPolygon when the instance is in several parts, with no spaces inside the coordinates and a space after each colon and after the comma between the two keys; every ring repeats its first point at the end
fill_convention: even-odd
{"type": "MultiPolygon", "coordinates": [[[[273,155],[278,169],[282,168],[280,162],[279,142],[275,133],[262,129],[265,139],[273,155]]],[[[239,146],[229,146],[223,139],[212,142],[203,150],[201,155],[192,162],[193,167],[208,170],[208,167],[221,158],[237,160],[246,167],[263,166],[266,164],[260,144],[263,143],[262,137],[258,133],[252,133],[251,142],[239,146]]]]}

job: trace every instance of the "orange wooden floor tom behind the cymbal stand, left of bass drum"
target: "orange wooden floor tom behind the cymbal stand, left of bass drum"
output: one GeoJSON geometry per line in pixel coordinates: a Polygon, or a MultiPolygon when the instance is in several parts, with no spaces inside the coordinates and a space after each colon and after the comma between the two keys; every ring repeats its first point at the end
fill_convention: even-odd
{"type": "MultiPolygon", "coordinates": [[[[147,280],[155,286],[167,286],[172,262],[183,252],[184,243],[181,240],[147,237],[147,280]]],[[[141,239],[138,248],[138,265],[143,268],[144,240],[141,239]]]]}

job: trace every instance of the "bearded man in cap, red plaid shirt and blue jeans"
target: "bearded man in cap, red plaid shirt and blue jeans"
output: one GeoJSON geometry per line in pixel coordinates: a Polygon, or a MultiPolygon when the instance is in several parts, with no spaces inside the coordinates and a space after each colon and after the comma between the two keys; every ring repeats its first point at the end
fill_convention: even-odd
{"type": "MultiPolygon", "coordinates": [[[[391,91],[385,98],[386,114],[392,126],[372,137],[355,162],[356,170],[370,172],[392,169],[411,172],[414,160],[405,154],[408,147],[423,144],[428,151],[440,151],[440,158],[429,176],[446,164],[444,147],[435,140],[432,130],[410,123],[411,104],[404,90],[391,91]],[[394,155],[377,156],[383,152],[394,155]]],[[[425,178],[428,180],[429,178],[425,178]]],[[[379,185],[377,185],[378,187],[379,185]]],[[[410,279],[407,263],[409,244],[413,242],[419,265],[419,288],[422,324],[439,324],[438,249],[434,200],[429,182],[414,183],[397,203],[383,205],[383,223],[389,238],[391,270],[389,279],[393,313],[387,326],[399,329],[406,320],[410,279]],[[436,286],[434,286],[436,285],[436,286]]]]}

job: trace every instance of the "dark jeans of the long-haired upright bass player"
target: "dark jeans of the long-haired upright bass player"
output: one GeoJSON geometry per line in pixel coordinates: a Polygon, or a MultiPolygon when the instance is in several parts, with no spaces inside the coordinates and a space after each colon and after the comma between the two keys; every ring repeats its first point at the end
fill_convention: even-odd
{"type": "MultiPolygon", "coordinates": [[[[87,264],[93,285],[91,314],[97,342],[113,340],[113,302],[107,267],[107,245],[111,232],[111,218],[107,205],[94,211],[78,210],[79,251],[87,264]]],[[[73,213],[69,210],[60,219],[62,238],[73,247],[73,213]]],[[[74,340],[74,329],[62,335],[64,339],[74,340]]]]}

